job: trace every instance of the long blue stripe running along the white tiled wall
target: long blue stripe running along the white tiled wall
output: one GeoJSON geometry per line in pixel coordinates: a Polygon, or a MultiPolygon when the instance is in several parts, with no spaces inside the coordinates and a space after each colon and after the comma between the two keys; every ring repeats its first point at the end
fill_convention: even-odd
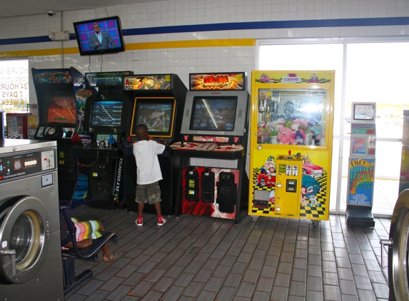
{"type": "MultiPolygon", "coordinates": [[[[409,25],[409,17],[394,18],[357,18],[357,19],[325,19],[325,20],[293,20],[293,21],[258,21],[200,25],[161,26],[141,29],[123,29],[123,36],[140,36],[143,34],[174,34],[194,31],[222,31],[246,29],[297,29],[311,27],[346,27],[346,26],[393,26],[409,25]]],[[[70,40],[75,34],[70,34],[70,40]]],[[[49,36],[33,36],[28,38],[0,39],[0,45],[29,44],[50,42],[49,36]]]]}

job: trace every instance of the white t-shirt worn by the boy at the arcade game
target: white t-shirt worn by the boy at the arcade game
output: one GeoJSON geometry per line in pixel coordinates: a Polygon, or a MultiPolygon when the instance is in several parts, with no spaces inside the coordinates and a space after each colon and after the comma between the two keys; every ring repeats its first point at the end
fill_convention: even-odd
{"type": "Polygon", "coordinates": [[[133,155],[136,160],[136,183],[146,185],[162,180],[158,155],[165,146],[153,140],[138,141],[133,144],[133,155]]]}

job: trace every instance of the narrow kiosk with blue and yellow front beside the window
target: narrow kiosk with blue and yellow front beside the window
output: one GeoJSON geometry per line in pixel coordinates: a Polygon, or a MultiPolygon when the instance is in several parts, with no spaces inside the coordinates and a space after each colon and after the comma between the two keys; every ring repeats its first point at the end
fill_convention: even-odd
{"type": "Polygon", "coordinates": [[[346,224],[374,227],[376,103],[352,103],[346,224]]]}

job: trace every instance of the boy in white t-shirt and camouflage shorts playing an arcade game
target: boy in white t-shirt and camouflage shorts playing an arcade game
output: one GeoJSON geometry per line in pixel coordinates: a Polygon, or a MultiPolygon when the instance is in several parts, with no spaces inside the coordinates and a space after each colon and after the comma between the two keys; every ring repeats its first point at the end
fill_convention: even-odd
{"type": "Polygon", "coordinates": [[[153,204],[158,214],[158,225],[163,225],[166,220],[161,213],[161,188],[159,180],[162,180],[161,167],[158,155],[165,150],[165,140],[158,142],[149,140],[148,128],[144,124],[136,126],[138,141],[133,144],[133,155],[136,160],[136,198],[138,203],[138,219],[136,225],[143,225],[143,206],[146,203],[153,204]]]}

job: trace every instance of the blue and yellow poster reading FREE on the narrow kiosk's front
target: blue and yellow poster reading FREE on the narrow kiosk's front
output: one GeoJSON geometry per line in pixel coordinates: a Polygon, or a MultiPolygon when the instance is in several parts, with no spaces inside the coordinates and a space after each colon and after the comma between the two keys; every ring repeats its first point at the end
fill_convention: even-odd
{"type": "Polygon", "coordinates": [[[350,158],[348,179],[348,205],[372,206],[374,158],[350,158]]]}

